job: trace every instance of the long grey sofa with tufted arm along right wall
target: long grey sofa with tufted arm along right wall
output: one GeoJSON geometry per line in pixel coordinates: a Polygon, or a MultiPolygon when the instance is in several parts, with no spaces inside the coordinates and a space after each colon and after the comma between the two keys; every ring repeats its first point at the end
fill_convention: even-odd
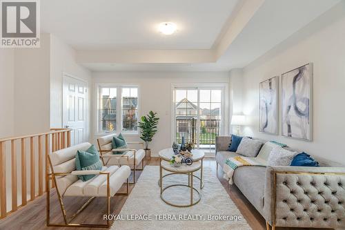
{"type": "MultiPolygon", "coordinates": [[[[230,136],[216,137],[216,160],[221,168],[228,157],[230,136]]],[[[266,220],[275,227],[345,228],[345,167],[315,157],[320,167],[242,166],[233,182],[266,220]]]]}

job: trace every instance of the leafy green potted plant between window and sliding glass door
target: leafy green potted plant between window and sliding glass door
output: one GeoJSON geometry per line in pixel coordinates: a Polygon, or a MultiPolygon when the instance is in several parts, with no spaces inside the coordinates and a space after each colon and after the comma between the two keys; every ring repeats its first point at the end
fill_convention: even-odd
{"type": "Polygon", "coordinates": [[[150,111],[148,115],[141,117],[138,127],[140,128],[140,139],[145,142],[145,151],[149,158],[151,157],[150,148],[148,144],[152,142],[152,137],[157,133],[157,124],[159,117],[156,117],[157,113],[150,111]]]}

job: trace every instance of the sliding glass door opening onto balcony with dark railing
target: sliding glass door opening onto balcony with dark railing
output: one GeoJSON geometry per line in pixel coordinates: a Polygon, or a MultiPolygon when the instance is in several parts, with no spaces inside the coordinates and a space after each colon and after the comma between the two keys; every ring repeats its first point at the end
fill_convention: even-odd
{"type": "Polygon", "coordinates": [[[175,87],[175,142],[193,142],[206,153],[215,153],[215,137],[222,131],[222,87],[175,87]]]}

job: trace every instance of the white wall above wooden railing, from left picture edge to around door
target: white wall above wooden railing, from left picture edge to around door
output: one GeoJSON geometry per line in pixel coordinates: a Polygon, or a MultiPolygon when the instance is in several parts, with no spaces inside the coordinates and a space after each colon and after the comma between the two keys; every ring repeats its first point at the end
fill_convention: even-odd
{"type": "MultiPolygon", "coordinates": [[[[90,86],[90,71],[77,64],[75,50],[54,35],[42,34],[40,48],[0,50],[0,137],[62,128],[63,73],[90,86]]],[[[87,107],[90,133],[90,100],[87,107]]]]}

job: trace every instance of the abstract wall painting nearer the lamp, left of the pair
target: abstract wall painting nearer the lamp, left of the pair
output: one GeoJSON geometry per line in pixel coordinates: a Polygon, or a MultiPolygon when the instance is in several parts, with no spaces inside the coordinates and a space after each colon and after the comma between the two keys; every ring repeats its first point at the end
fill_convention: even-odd
{"type": "Polygon", "coordinates": [[[279,77],[260,82],[259,131],[278,134],[279,77]]]}

